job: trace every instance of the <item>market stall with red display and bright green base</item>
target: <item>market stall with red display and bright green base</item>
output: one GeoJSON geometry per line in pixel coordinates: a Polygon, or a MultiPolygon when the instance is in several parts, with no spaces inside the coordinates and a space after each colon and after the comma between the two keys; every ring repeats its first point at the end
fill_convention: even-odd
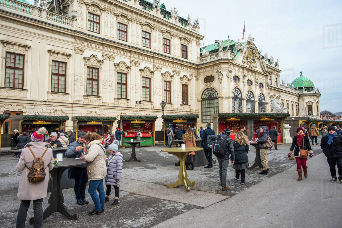
{"type": "Polygon", "coordinates": [[[120,116],[120,126],[122,126],[122,146],[131,146],[127,141],[136,141],[136,133],[140,128],[141,146],[154,146],[155,144],[155,126],[158,116],[120,116]]]}

